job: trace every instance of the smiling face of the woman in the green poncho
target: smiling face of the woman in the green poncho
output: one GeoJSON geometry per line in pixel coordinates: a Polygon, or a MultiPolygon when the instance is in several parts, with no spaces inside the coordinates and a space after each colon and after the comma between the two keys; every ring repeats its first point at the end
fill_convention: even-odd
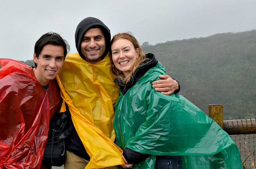
{"type": "Polygon", "coordinates": [[[112,60],[116,68],[128,76],[133,68],[139,49],[135,49],[132,42],[127,39],[118,39],[111,45],[112,60]]]}

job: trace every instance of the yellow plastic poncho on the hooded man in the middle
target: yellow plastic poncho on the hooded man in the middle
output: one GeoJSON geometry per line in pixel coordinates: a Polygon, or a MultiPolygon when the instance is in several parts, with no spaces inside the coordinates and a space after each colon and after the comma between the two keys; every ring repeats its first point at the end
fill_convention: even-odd
{"type": "Polygon", "coordinates": [[[114,143],[113,104],[119,87],[113,82],[108,55],[91,64],[78,53],[68,54],[56,77],[77,134],[91,157],[85,168],[124,164],[122,150],[114,143]]]}

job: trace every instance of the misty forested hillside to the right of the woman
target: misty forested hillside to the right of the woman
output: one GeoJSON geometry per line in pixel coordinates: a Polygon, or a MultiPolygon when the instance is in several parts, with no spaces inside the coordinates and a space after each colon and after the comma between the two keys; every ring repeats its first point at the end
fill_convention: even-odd
{"type": "Polygon", "coordinates": [[[256,116],[256,30],[145,42],[142,48],[156,55],[180,82],[180,94],[206,114],[208,104],[223,104],[225,120],[256,116]]]}

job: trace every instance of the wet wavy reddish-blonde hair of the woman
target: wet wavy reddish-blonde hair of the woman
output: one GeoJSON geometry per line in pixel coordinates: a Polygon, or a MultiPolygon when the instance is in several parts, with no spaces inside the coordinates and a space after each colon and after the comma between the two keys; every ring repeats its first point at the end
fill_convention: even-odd
{"type": "Polygon", "coordinates": [[[126,85],[131,78],[133,78],[133,74],[135,72],[135,70],[137,69],[137,67],[140,65],[141,62],[145,61],[145,54],[142,52],[142,49],[140,48],[140,43],[138,42],[138,40],[132,35],[132,33],[128,32],[128,33],[118,33],[115,36],[113,36],[112,40],[110,41],[110,63],[111,63],[111,68],[112,68],[112,72],[116,75],[116,77],[120,78],[123,83],[126,85]],[[112,44],[119,39],[127,39],[130,42],[132,42],[135,50],[138,48],[138,58],[134,64],[134,66],[132,67],[132,69],[130,70],[130,73],[128,74],[128,76],[124,76],[124,73],[120,70],[118,70],[116,68],[116,66],[114,65],[114,62],[112,60],[112,51],[111,51],[111,46],[112,44]]]}

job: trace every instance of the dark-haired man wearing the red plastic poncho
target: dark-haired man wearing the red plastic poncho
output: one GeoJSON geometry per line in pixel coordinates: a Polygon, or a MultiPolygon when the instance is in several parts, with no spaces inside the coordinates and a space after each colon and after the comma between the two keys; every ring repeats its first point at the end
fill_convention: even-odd
{"type": "Polygon", "coordinates": [[[49,121],[62,103],[55,76],[68,50],[51,32],[36,42],[34,68],[0,59],[0,169],[40,168],[49,121]]]}

